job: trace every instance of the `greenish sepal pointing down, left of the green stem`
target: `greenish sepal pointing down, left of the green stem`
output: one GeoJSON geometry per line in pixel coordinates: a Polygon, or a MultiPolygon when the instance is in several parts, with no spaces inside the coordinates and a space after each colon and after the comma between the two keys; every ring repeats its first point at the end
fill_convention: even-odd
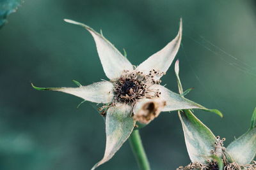
{"type": "Polygon", "coordinates": [[[119,150],[129,138],[135,121],[131,117],[132,107],[127,104],[116,104],[108,109],[106,117],[106,150],[104,157],[92,169],[104,164],[119,150]]]}

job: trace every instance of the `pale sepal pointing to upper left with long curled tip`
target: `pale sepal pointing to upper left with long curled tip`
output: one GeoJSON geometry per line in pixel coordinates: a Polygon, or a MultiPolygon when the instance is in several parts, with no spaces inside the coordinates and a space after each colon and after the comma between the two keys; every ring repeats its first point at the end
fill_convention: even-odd
{"type": "Polygon", "coordinates": [[[76,22],[74,20],[65,19],[65,22],[76,24],[87,29],[95,40],[97,51],[99,53],[100,62],[103,66],[106,76],[111,80],[121,76],[124,70],[133,71],[131,62],[120,53],[115,46],[113,46],[108,39],[104,38],[102,34],[94,31],[85,24],[76,22]]]}

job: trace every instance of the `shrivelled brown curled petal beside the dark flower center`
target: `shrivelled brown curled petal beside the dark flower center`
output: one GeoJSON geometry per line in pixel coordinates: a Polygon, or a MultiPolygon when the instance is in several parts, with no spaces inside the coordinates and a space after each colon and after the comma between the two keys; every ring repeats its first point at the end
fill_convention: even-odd
{"type": "Polygon", "coordinates": [[[166,102],[161,99],[140,99],[133,109],[134,120],[141,124],[148,124],[158,117],[166,102]]]}

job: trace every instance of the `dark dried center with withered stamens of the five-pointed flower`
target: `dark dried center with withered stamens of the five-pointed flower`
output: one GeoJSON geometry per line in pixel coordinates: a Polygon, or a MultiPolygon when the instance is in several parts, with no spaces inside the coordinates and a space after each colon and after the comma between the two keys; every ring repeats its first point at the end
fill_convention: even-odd
{"type": "Polygon", "coordinates": [[[160,81],[154,80],[152,71],[149,74],[141,72],[127,72],[114,82],[115,98],[113,103],[135,104],[138,99],[159,97],[158,89],[150,89],[154,84],[159,84],[160,81]]]}

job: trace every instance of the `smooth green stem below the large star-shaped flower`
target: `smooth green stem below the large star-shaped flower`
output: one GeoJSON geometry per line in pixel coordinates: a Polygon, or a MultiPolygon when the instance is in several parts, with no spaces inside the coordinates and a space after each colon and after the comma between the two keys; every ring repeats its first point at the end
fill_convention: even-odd
{"type": "Polygon", "coordinates": [[[141,142],[139,130],[134,130],[132,132],[129,142],[140,169],[150,170],[147,155],[141,142]]]}

